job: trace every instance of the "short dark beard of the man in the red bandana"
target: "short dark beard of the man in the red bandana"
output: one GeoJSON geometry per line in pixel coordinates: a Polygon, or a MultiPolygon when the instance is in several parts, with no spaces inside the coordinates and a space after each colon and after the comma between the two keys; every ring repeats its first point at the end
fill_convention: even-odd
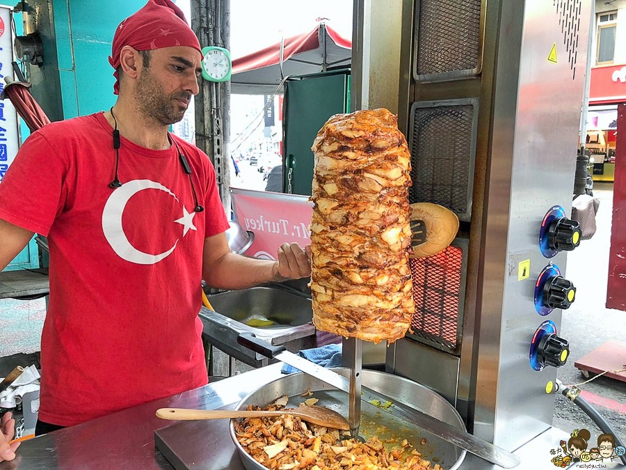
{"type": "Polygon", "coordinates": [[[177,99],[190,100],[191,94],[177,93],[166,95],[148,70],[142,70],[136,82],[135,97],[140,111],[152,120],[163,125],[178,123],[186,108],[177,99]]]}

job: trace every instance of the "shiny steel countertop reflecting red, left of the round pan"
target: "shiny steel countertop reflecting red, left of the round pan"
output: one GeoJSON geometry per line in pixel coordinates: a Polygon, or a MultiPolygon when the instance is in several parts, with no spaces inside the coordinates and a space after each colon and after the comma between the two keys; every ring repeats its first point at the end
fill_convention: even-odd
{"type": "Polygon", "coordinates": [[[154,447],[154,431],[172,424],[154,416],[157,409],[216,409],[234,404],[250,391],[280,377],[281,367],[282,363],[273,364],[29,439],[19,446],[15,460],[0,463],[0,470],[172,469],[154,447]]]}

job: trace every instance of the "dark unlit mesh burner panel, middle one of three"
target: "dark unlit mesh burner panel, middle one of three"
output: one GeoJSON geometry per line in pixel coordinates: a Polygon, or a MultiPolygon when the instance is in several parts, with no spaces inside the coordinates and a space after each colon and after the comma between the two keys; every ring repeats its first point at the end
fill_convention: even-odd
{"type": "Polygon", "coordinates": [[[435,203],[467,214],[474,106],[415,107],[410,203],[435,203]]]}

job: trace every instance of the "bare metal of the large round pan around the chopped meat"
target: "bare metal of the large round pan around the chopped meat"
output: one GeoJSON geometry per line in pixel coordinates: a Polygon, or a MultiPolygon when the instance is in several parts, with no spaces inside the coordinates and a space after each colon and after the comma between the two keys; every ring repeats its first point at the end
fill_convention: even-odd
{"type": "MultiPolygon", "coordinates": [[[[348,377],[349,369],[336,368],[334,370],[344,375],[344,377],[348,377]]],[[[397,375],[374,370],[363,370],[362,383],[375,391],[384,393],[441,421],[465,430],[465,424],[458,412],[456,412],[456,409],[440,395],[427,389],[425,386],[397,375]]],[[[235,409],[246,409],[248,405],[265,407],[283,395],[289,395],[288,407],[298,407],[300,402],[310,398],[300,396],[307,391],[307,387],[310,387],[314,397],[319,399],[316,405],[334,409],[336,412],[348,416],[348,395],[346,393],[333,389],[332,386],[303,373],[285,375],[262,386],[260,389],[250,393],[246,398],[243,398],[235,409]]],[[[446,470],[454,470],[460,467],[465,458],[465,451],[430,432],[417,428],[412,423],[406,423],[406,421],[396,418],[393,415],[393,407],[390,410],[391,412],[387,412],[379,407],[362,402],[361,434],[365,437],[375,434],[381,440],[390,439],[392,435],[399,437],[399,441],[408,439],[424,455],[424,458],[433,462],[433,467],[435,463],[439,463],[446,470]],[[385,429],[383,432],[380,432],[381,427],[385,429]],[[421,444],[423,438],[426,438],[426,444],[424,445],[421,444]]],[[[243,447],[236,439],[232,422],[230,423],[230,436],[237,452],[239,452],[243,467],[246,467],[247,470],[266,470],[266,467],[259,464],[243,450],[243,447]]]]}

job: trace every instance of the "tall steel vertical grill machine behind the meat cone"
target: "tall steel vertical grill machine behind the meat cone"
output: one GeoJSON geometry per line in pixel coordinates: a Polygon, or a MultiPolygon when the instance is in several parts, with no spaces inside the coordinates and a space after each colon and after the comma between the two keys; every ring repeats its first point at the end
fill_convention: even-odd
{"type": "MultiPolygon", "coordinates": [[[[424,341],[423,334],[407,336],[389,348],[387,368],[438,389],[474,434],[510,451],[552,425],[554,395],[546,393],[546,386],[556,369],[533,368],[530,352],[543,322],[551,321],[559,334],[561,310],[540,315],[534,295],[550,261],[565,276],[565,253],[545,258],[539,232],[552,207],[563,207],[564,216],[570,213],[590,19],[590,0],[403,2],[400,96],[408,102],[400,102],[399,109],[415,168],[410,202],[449,207],[470,237],[463,267],[465,306],[456,325],[460,350],[447,354],[436,350],[444,350],[440,344],[424,341]],[[455,15],[457,22],[449,27],[457,31],[450,31],[449,38],[424,40],[429,31],[442,36],[439,24],[424,31],[425,8],[478,11],[478,3],[481,17],[472,24],[480,25],[479,33],[474,26],[467,44],[458,33],[465,23],[455,15]],[[470,77],[466,68],[467,79],[460,79],[463,73],[449,65],[454,61],[431,67],[430,77],[420,68],[427,54],[442,54],[448,61],[450,41],[456,41],[460,57],[467,45],[474,47],[475,38],[479,74],[470,77]],[[437,73],[440,79],[433,79],[437,73]],[[478,102],[475,121],[449,119],[445,113],[463,109],[471,116],[464,107],[478,102]],[[463,146],[452,145],[457,141],[463,146]],[[467,148],[475,148],[475,158],[467,158],[467,148]],[[454,155],[466,155],[458,160],[463,165],[454,155]],[[438,158],[446,160],[435,167],[438,158]],[[432,190],[461,179],[468,181],[467,212],[455,198],[432,190]]],[[[431,308],[436,301],[424,304],[431,308]]],[[[439,318],[444,313],[440,305],[439,318]]],[[[438,326],[436,315],[430,320],[438,326]]]]}

